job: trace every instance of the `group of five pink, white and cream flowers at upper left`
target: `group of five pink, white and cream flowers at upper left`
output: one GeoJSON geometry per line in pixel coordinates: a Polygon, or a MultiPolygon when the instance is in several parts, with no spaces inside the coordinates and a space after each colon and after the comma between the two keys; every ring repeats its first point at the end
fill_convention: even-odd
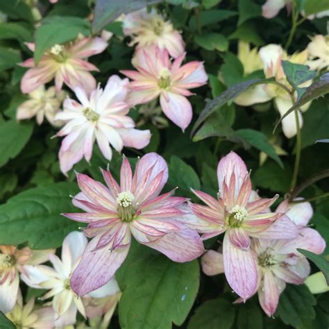
{"type": "MultiPolygon", "coordinates": [[[[180,33],[155,9],[126,15],[124,33],[133,38],[131,44],[138,44],[133,58],[137,71],[121,72],[133,80],[130,82],[111,76],[104,89],[96,87],[90,71],[98,69],[86,59],[106,49],[104,37],[79,36],[74,42],[53,46],[37,66],[33,58],[21,63],[30,68],[21,83],[22,92],[28,93],[30,100],[19,107],[17,119],[36,115],[41,124],[45,115],[51,124],[65,124],[57,133],[66,136],[59,152],[64,174],[83,157],[90,161],[95,140],[108,160],[112,158],[110,146],[120,152],[124,146],[142,149],[149,144],[150,131],[135,129],[135,122],[128,117],[130,108],[137,104],[159,98],[162,111],[182,130],[192,120],[192,106],[186,97],[192,95],[189,89],[204,85],[208,76],[202,62],[182,65],[185,52],[180,33]],[[55,87],[46,91],[44,84],[53,78],[55,87]],[[79,102],[67,97],[60,111],[64,83],[79,102]]],[[[28,44],[31,51],[34,47],[28,44]]]]}

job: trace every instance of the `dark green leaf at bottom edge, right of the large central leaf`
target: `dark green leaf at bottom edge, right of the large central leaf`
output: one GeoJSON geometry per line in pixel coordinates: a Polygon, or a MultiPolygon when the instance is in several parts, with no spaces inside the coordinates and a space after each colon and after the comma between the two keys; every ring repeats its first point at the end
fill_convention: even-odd
{"type": "Polygon", "coordinates": [[[192,315],[187,329],[230,329],[235,319],[235,310],[224,298],[210,299],[199,306],[192,315]]]}

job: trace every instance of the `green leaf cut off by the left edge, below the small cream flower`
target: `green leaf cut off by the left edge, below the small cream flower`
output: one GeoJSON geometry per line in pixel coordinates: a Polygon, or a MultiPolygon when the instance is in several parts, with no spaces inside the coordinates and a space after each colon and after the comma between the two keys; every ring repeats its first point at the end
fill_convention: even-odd
{"type": "Polygon", "coordinates": [[[31,122],[19,124],[12,119],[0,123],[0,167],[22,151],[32,132],[31,122]]]}

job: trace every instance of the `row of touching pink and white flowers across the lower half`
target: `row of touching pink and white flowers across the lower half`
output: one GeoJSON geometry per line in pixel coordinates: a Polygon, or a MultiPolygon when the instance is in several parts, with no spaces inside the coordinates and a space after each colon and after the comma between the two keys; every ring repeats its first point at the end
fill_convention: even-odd
{"type": "MultiPolygon", "coordinates": [[[[53,297],[60,323],[74,323],[77,310],[88,316],[88,305],[97,305],[96,314],[112,312],[113,299],[119,298],[115,272],[128,255],[132,235],[174,262],[188,262],[205,253],[203,240],[225,233],[221,253],[210,250],[202,256],[203,271],[207,275],[225,273],[239,296],[237,302],[258,293],[260,305],[271,316],[286,282],[300,285],[310,274],[310,264],[296,249],[321,254],[326,247],[317,230],[307,227],[312,217],[310,203],[282,201],[276,212],[271,212],[269,207],[278,196],[261,199],[252,190],[246,165],[236,153],[219,161],[216,199],[192,190],[204,205],[172,196],[174,191],[159,195],[167,183],[168,168],[156,153],[140,158],[135,174],[124,158],[120,184],[110,171],[101,171],[106,186],[77,174],[81,192],[73,203],[85,212],[63,214],[88,224],[83,233],[92,238],[89,243],[83,233],[70,233],[62,245],[62,261],[50,251],[33,260],[27,248],[17,251],[3,246],[2,309],[8,311],[15,304],[17,294],[12,291],[18,289],[18,270],[28,286],[51,289],[43,298],[53,297]],[[54,269],[35,265],[48,259],[54,269]],[[103,298],[101,306],[95,297],[103,298]]],[[[22,310],[22,303],[16,307],[22,310]]],[[[29,310],[32,308],[33,302],[29,310]]],[[[10,314],[15,317],[16,313],[10,314]]]]}

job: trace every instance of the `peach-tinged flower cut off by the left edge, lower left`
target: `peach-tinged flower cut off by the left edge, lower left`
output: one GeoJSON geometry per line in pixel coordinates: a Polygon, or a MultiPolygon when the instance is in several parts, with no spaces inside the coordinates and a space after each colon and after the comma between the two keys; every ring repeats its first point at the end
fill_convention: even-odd
{"type": "Polygon", "coordinates": [[[0,311],[8,313],[15,306],[19,291],[19,273],[26,273],[27,264],[49,260],[53,249],[31,250],[28,247],[0,246],[0,311]]]}

